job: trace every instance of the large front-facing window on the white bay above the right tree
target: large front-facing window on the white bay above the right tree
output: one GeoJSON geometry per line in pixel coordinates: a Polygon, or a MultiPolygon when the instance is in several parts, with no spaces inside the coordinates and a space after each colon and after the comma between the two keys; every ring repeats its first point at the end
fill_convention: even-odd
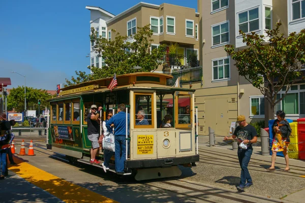
{"type": "Polygon", "coordinates": [[[238,31],[251,32],[259,29],[258,8],[238,14],[238,31]]]}

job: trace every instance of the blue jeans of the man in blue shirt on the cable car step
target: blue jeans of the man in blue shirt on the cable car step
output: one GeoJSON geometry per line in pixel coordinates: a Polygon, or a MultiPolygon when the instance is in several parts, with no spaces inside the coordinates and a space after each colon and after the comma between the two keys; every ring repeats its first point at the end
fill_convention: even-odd
{"type": "Polygon", "coordinates": [[[115,136],[115,171],[124,172],[126,160],[126,136],[115,136]]]}

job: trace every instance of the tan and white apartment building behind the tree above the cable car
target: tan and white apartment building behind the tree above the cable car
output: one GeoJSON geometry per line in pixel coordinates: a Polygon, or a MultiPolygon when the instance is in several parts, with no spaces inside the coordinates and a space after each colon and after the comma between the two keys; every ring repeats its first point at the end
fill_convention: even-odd
{"type": "MultiPolygon", "coordinates": [[[[155,49],[161,44],[178,43],[179,49],[176,54],[180,56],[179,63],[168,64],[166,67],[160,66],[157,72],[172,72],[190,67],[189,55],[197,55],[199,60],[199,14],[195,12],[195,9],[171,4],[154,5],[142,2],[118,15],[94,6],[86,6],[86,9],[90,10],[90,27],[95,27],[99,36],[103,38],[109,40],[114,38],[111,30],[115,29],[121,35],[129,36],[128,41],[132,41],[137,27],[150,24],[154,33],[151,49],[155,49]]],[[[90,65],[101,68],[105,65],[105,61],[103,57],[97,56],[93,51],[93,46],[94,44],[91,44],[90,65]]]]}

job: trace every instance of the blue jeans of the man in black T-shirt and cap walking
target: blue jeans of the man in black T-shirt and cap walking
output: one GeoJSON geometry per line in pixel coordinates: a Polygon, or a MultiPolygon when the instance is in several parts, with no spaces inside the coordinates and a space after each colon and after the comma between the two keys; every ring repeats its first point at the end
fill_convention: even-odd
{"type": "Polygon", "coordinates": [[[241,185],[245,185],[246,180],[248,183],[252,182],[252,178],[248,171],[248,164],[249,164],[252,152],[253,152],[253,148],[248,148],[248,149],[238,148],[237,156],[238,156],[239,165],[241,168],[241,173],[240,173],[240,184],[241,185]]]}

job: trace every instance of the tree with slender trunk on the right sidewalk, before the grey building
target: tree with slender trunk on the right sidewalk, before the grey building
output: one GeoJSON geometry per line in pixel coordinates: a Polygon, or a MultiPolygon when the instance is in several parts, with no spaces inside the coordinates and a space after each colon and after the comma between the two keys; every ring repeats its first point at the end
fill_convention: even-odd
{"type": "Polygon", "coordinates": [[[301,69],[305,64],[305,29],[292,32],[287,38],[280,34],[281,23],[275,29],[266,30],[267,36],[242,33],[247,49],[235,51],[226,45],[225,51],[236,61],[238,74],[258,88],[269,103],[270,114],[265,120],[274,119],[275,106],[283,100],[291,85],[301,80],[301,69]],[[267,44],[266,44],[267,39],[267,44]],[[278,99],[282,88],[285,94],[278,99]]]}

